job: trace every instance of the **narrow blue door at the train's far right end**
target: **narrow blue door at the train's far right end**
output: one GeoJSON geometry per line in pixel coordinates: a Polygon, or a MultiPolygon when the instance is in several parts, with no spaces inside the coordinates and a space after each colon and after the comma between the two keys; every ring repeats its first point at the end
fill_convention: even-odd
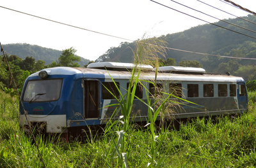
{"type": "Polygon", "coordinates": [[[239,104],[239,109],[247,109],[248,99],[247,99],[246,86],[244,83],[237,83],[237,84],[238,84],[237,101],[239,104]]]}

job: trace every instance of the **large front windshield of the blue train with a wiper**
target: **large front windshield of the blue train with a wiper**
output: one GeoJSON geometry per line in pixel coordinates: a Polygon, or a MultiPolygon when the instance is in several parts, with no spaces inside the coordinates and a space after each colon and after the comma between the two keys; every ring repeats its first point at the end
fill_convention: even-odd
{"type": "Polygon", "coordinates": [[[60,98],[62,79],[28,81],[23,101],[45,102],[57,101],[60,98]]]}

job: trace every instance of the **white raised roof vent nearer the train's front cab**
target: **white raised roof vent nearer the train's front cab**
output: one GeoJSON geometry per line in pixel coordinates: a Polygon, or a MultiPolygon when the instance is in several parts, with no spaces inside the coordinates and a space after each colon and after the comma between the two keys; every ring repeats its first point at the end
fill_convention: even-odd
{"type": "MultiPolygon", "coordinates": [[[[109,70],[123,70],[127,71],[132,68],[134,68],[136,65],[132,63],[124,63],[124,62],[95,62],[92,64],[89,64],[87,67],[88,68],[97,68],[97,69],[109,69],[109,70]]],[[[154,71],[154,68],[150,65],[143,65],[139,64],[138,67],[141,67],[141,69],[144,70],[150,70],[154,71]]]]}

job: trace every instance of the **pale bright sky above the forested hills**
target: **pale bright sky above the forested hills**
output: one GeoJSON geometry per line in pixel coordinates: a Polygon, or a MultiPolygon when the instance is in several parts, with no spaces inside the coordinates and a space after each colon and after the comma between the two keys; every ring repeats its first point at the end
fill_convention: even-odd
{"type": "MultiPolygon", "coordinates": [[[[207,22],[218,22],[216,18],[236,17],[200,1],[239,17],[250,14],[222,0],[175,0],[216,18],[190,10],[171,0],[155,1],[207,22]]],[[[252,11],[256,6],[255,0],[231,1],[252,11]]],[[[109,48],[117,47],[122,42],[130,43],[141,39],[144,34],[148,38],[158,37],[207,24],[157,3],[150,0],[0,0],[0,42],[2,45],[27,43],[56,50],[73,47],[77,50],[76,55],[96,60],[109,48]],[[17,11],[83,29],[31,17],[17,11]]]]}

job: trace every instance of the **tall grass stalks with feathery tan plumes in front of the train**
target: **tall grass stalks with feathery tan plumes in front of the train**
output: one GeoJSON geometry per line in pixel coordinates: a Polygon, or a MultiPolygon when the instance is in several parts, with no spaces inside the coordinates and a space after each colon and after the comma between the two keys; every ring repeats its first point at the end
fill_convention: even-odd
{"type": "MultiPolygon", "coordinates": [[[[119,120],[115,121],[114,123],[111,123],[109,127],[107,127],[107,130],[109,128],[113,128],[113,125],[117,125],[117,123],[122,123],[121,125],[118,125],[118,127],[115,127],[114,131],[112,133],[117,134],[116,138],[114,138],[113,134],[111,134],[111,140],[113,144],[110,147],[109,150],[109,157],[106,160],[108,166],[110,167],[111,163],[114,162],[115,158],[118,158],[118,162],[116,162],[116,166],[120,165],[122,167],[127,167],[128,160],[131,159],[131,142],[127,141],[129,139],[129,136],[131,136],[131,118],[134,116],[131,116],[132,111],[132,104],[134,99],[140,100],[142,103],[144,103],[148,107],[148,118],[147,118],[147,125],[148,126],[148,133],[149,133],[149,139],[145,139],[145,141],[148,141],[150,143],[150,148],[145,155],[145,159],[147,160],[147,163],[145,166],[147,167],[161,167],[163,166],[163,160],[165,158],[165,155],[167,151],[161,151],[160,148],[166,139],[166,132],[168,131],[168,127],[163,127],[164,116],[173,114],[172,108],[167,108],[170,106],[170,104],[175,104],[176,106],[179,105],[177,101],[170,101],[170,97],[176,98],[175,100],[182,100],[186,101],[184,99],[181,99],[180,97],[177,97],[173,94],[167,94],[164,92],[160,92],[159,88],[157,88],[157,68],[159,67],[159,60],[161,57],[164,57],[165,54],[165,41],[163,39],[157,39],[157,38],[147,38],[147,39],[141,39],[140,41],[137,41],[136,48],[133,50],[134,53],[134,65],[135,67],[131,71],[131,79],[129,83],[129,87],[127,88],[127,94],[122,95],[119,88],[116,85],[116,89],[118,90],[121,99],[119,100],[115,95],[113,95],[110,91],[110,93],[115,97],[116,101],[118,101],[118,104],[114,104],[114,106],[118,105],[115,111],[121,111],[122,116],[119,116],[119,120]],[[155,78],[152,78],[151,80],[140,80],[141,77],[141,64],[151,64],[152,66],[156,67],[156,73],[155,78]],[[154,94],[150,93],[149,90],[147,90],[148,83],[151,83],[154,85],[154,94]],[[138,89],[137,86],[143,87],[146,90],[146,102],[145,97],[144,99],[140,99],[136,96],[136,89],[138,89]],[[158,93],[160,93],[161,97],[158,96],[158,93]],[[153,102],[150,99],[149,95],[154,98],[153,102]],[[156,122],[159,120],[160,116],[160,125],[161,130],[156,130],[156,122]]],[[[110,74],[109,74],[110,76],[110,74]]],[[[112,79],[113,80],[113,79],[112,79]]],[[[115,80],[113,80],[115,83],[115,80]]],[[[111,122],[111,120],[109,121],[111,122]]]]}

